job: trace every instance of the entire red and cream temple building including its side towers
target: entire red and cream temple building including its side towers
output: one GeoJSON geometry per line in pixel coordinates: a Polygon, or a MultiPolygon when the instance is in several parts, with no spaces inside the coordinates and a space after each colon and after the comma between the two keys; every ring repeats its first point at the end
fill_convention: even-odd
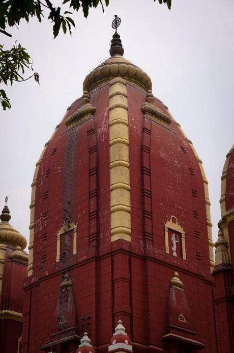
{"type": "Polygon", "coordinates": [[[202,161],[119,24],[36,164],[28,259],[1,215],[3,353],[234,352],[233,149],[214,259],[202,161]]]}

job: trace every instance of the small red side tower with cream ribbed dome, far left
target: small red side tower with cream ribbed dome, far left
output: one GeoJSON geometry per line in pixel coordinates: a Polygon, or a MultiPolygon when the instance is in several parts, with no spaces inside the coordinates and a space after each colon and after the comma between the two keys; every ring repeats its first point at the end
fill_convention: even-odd
{"type": "MultiPolygon", "coordinates": [[[[6,197],[7,201],[8,197],[6,197]]],[[[20,353],[23,321],[23,288],[28,255],[27,242],[9,223],[5,205],[0,215],[0,351],[20,353]]]]}

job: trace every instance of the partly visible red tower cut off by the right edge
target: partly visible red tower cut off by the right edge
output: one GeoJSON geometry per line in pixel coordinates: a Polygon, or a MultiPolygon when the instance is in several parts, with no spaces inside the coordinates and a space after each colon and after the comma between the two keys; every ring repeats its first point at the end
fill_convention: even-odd
{"type": "Polygon", "coordinates": [[[234,145],[227,154],[221,177],[221,220],[215,243],[215,303],[219,323],[219,352],[234,352],[234,145]]]}

